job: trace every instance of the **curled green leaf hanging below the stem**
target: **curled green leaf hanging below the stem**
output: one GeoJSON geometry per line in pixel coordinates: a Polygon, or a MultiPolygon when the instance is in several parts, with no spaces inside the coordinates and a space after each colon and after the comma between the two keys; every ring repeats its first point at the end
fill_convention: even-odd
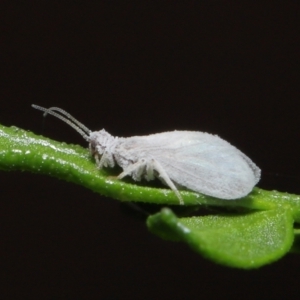
{"type": "Polygon", "coordinates": [[[150,216],[147,226],[159,237],[185,242],[217,263],[245,269],[279,259],[294,237],[292,215],[281,209],[177,218],[165,208],[150,216]]]}

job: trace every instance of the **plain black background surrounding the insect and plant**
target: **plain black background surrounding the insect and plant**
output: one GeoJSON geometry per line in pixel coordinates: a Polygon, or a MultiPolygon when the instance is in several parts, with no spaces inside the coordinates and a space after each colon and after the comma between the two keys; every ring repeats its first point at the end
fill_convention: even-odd
{"type": "MultiPolygon", "coordinates": [[[[217,133],[262,168],[260,187],[300,193],[298,1],[3,3],[3,125],[41,133],[35,103],[118,136],[217,133]]],[[[44,135],[86,145],[50,117],[44,135]]],[[[1,299],[299,297],[299,256],[225,268],[151,235],[115,200],[0,176],[1,299]]]]}

